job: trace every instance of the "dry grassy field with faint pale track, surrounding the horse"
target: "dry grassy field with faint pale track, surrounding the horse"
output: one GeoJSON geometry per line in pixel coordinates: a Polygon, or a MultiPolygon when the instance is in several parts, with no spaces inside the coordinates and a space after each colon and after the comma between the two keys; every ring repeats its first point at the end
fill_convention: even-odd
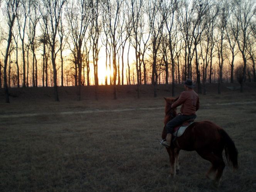
{"type": "MultiPolygon", "coordinates": [[[[236,144],[239,169],[228,165],[217,189],[205,173],[210,163],[196,152],[180,152],[180,173],[168,178],[170,163],[159,144],[165,101],[170,86],[12,88],[10,104],[0,89],[0,191],[255,191],[256,84],[244,93],[223,84],[207,85],[200,94],[196,121],[210,120],[227,131],[236,144]]],[[[196,90],[196,89],[195,89],[196,90]]],[[[177,95],[183,91],[177,87],[177,95]]],[[[179,110],[179,109],[178,109],[179,110]]],[[[223,154],[224,156],[224,154],[223,154]]]]}

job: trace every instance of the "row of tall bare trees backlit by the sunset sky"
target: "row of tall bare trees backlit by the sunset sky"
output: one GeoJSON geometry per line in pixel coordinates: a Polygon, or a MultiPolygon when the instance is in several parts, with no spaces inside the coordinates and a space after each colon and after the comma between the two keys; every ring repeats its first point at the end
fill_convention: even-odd
{"type": "MultiPolygon", "coordinates": [[[[254,0],[0,1],[0,87],[256,82],[254,0]],[[103,54],[104,53],[104,54],[103,54]],[[126,60],[126,61],[125,61],[126,60]],[[101,62],[103,59],[100,60],[101,62]],[[237,64],[237,67],[235,64],[237,64]],[[108,79],[109,78],[109,79],[108,79]],[[93,82],[91,82],[93,81],[93,82]],[[49,82],[51,84],[49,85],[49,82]]],[[[219,93],[221,90],[218,90],[219,93]]]]}

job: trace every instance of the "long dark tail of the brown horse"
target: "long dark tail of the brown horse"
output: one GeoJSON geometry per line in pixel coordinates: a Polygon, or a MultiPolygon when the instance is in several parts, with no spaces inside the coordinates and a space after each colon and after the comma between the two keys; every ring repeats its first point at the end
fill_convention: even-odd
{"type": "Polygon", "coordinates": [[[238,152],[237,152],[235,143],[234,141],[232,141],[232,139],[229,137],[229,135],[227,135],[226,131],[224,131],[223,129],[220,129],[219,133],[223,138],[222,141],[224,142],[226,159],[227,161],[232,162],[233,167],[237,169],[238,168],[238,164],[237,164],[238,152]]]}

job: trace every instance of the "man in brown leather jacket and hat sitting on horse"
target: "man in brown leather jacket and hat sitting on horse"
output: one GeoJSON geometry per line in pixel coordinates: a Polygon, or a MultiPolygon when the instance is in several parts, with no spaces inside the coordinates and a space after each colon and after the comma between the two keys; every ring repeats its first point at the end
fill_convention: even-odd
{"type": "Polygon", "coordinates": [[[166,141],[162,142],[162,145],[165,147],[170,147],[172,141],[172,133],[173,128],[181,125],[185,121],[195,119],[197,116],[195,115],[195,111],[199,109],[199,96],[194,91],[194,84],[191,79],[187,79],[184,83],[185,91],[182,92],[179,96],[179,99],[172,104],[172,108],[180,108],[180,115],[177,115],[175,118],[170,120],[165,128],[167,131],[166,141]]]}

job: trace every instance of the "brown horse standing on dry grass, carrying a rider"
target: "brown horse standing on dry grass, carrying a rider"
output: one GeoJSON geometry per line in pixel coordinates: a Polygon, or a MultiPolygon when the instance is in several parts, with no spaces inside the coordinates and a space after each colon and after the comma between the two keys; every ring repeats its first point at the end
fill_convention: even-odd
{"type": "MultiPolygon", "coordinates": [[[[171,108],[178,98],[165,98],[165,119],[164,124],[172,120],[177,115],[176,108],[171,108]]],[[[162,132],[162,139],[165,139],[167,133],[165,127],[162,132]]],[[[174,136],[172,136],[174,138],[174,136]]],[[[179,173],[179,151],[196,151],[202,158],[212,163],[212,167],[206,173],[208,179],[214,180],[219,185],[219,180],[225,163],[222,158],[222,151],[225,149],[225,155],[229,162],[232,162],[234,169],[238,168],[237,149],[226,131],[212,123],[211,121],[200,121],[191,124],[185,133],[172,139],[170,148],[166,148],[170,157],[171,173],[174,177],[179,173]],[[217,173],[216,173],[217,172],[217,173]]]]}

